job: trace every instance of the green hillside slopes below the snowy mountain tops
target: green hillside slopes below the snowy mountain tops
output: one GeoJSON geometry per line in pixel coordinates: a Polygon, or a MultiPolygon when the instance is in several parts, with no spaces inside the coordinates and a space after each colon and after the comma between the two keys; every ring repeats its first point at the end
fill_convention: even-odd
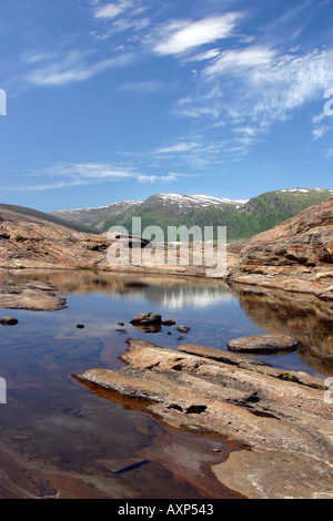
{"type": "Polygon", "coordinates": [[[333,196],[331,190],[299,188],[295,191],[266,192],[251,198],[244,205],[221,204],[180,211],[174,204],[161,206],[158,196],[149,197],[131,213],[107,218],[103,229],[121,225],[132,229],[132,217],[141,217],[142,229],[160,226],[165,234],[168,226],[226,226],[228,238],[250,238],[301,213],[303,210],[333,196]]]}

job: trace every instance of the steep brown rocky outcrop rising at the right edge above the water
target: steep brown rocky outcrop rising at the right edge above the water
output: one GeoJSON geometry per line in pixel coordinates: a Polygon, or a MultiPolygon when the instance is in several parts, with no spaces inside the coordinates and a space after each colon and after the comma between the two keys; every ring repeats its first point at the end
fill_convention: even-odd
{"type": "Polygon", "coordinates": [[[333,198],[253,237],[228,278],[333,299],[333,198]]]}

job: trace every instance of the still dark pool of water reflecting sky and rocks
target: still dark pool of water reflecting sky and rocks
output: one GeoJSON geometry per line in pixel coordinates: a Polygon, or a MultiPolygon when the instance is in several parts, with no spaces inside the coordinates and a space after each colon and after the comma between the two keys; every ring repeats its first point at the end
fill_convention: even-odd
{"type": "Polygon", "coordinates": [[[260,359],[323,379],[333,376],[332,308],[310,296],[186,277],[28,270],[8,277],[57,285],[67,307],[1,309],[19,319],[14,327],[0,326],[0,377],[7,382],[7,403],[0,405],[3,498],[232,497],[215,488],[209,470],[231,450],[222,440],[169,429],[72,378],[95,367],[121,367],[128,338],[171,349],[181,344],[225,349],[232,338],[283,333],[294,336],[300,349],[260,359]],[[140,331],[130,320],[143,311],[176,325],[140,331]],[[190,331],[180,335],[178,325],[190,331]],[[216,448],[219,453],[212,452],[216,448]]]}

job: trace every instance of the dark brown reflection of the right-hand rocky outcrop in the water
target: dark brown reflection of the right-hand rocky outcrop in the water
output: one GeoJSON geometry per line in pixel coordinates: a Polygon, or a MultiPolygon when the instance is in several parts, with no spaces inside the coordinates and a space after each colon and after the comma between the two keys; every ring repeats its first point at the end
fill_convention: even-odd
{"type": "Polygon", "coordinates": [[[259,327],[294,337],[297,356],[307,367],[333,376],[333,304],[314,295],[234,285],[230,287],[242,309],[259,327]]]}

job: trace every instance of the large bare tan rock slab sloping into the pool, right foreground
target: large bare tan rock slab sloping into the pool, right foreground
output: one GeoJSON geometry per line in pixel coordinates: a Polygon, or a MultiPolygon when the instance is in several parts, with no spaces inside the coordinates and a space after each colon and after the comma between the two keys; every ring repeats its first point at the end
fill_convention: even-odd
{"type": "MultiPolygon", "coordinates": [[[[275,494],[268,488],[270,456],[280,454],[272,468],[278,497],[314,498],[333,494],[332,406],[324,400],[322,380],[300,372],[283,372],[238,354],[184,345],[179,351],[143,340],[128,340],[118,370],[91,369],[75,375],[132,400],[163,422],[198,433],[220,436],[236,443],[238,476],[229,479],[224,468],[214,468],[221,483],[246,497],[275,494]],[[244,451],[245,449],[245,451],[244,451]],[[246,459],[246,454],[250,459],[246,459]],[[242,458],[242,454],[245,454],[242,458]],[[251,476],[255,471],[255,490],[251,476]],[[305,480],[293,480],[306,471],[305,480]],[[309,486],[315,483],[315,486],[309,486]],[[315,490],[316,492],[315,492],[315,490]]],[[[222,466],[232,467],[230,463],[222,466]]]]}

